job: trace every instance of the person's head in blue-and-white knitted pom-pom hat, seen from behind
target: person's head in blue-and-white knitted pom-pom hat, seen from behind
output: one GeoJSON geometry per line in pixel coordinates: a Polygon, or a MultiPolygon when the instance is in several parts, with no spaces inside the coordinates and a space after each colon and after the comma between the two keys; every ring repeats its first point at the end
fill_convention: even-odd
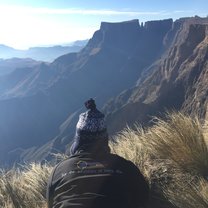
{"type": "Polygon", "coordinates": [[[109,152],[104,114],[96,109],[95,101],[92,98],[84,104],[90,111],[79,116],[71,154],[81,150],[91,153],[109,152]]]}

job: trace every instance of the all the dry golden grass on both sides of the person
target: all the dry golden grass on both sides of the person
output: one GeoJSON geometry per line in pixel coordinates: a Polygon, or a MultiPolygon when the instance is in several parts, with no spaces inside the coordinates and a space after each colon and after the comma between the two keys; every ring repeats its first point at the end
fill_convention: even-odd
{"type": "MultiPolygon", "coordinates": [[[[155,125],[127,128],[112,139],[112,152],[133,161],[151,189],[148,208],[208,207],[208,125],[181,113],[155,125]]],[[[49,164],[1,170],[0,207],[44,208],[49,164]]]]}

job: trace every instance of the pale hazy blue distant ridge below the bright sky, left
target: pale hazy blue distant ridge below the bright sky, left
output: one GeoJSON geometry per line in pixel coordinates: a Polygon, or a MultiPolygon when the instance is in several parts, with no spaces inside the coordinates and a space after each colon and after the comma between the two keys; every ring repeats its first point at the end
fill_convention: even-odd
{"type": "Polygon", "coordinates": [[[61,55],[71,52],[79,52],[87,44],[87,41],[88,40],[75,41],[67,46],[55,45],[48,47],[32,47],[28,50],[18,50],[0,44],[0,58],[31,58],[37,61],[52,62],[61,55]]]}

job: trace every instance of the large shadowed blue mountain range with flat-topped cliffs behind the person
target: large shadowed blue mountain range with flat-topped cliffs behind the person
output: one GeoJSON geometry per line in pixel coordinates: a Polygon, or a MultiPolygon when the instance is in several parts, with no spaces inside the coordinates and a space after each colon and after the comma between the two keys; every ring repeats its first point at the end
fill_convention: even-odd
{"type": "Polygon", "coordinates": [[[1,77],[1,164],[49,160],[95,98],[114,135],[180,110],[208,119],[208,18],[102,22],[87,45],[1,77]]]}

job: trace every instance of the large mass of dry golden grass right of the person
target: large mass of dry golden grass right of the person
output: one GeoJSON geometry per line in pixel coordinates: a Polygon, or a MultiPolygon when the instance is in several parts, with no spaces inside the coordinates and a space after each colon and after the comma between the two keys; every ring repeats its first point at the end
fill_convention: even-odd
{"type": "Polygon", "coordinates": [[[171,113],[164,120],[155,118],[155,125],[146,130],[127,128],[113,138],[111,149],[133,161],[146,176],[151,187],[149,207],[169,208],[172,204],[179,208],[206,208],[206,130],[197,118],[171,113]]]}

